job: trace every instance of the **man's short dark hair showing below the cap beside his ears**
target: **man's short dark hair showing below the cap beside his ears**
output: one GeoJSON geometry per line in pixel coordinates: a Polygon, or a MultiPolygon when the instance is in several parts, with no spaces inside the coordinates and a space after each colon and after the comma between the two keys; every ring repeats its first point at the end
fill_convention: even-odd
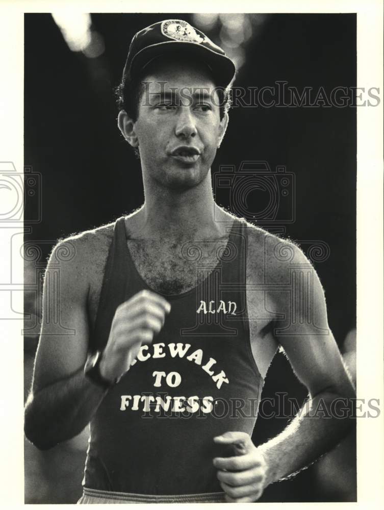
{"type": "MultiPolygon", "coordinates": [[[[128,75],[123,77],[121,83],[115,88],[115,96],[117,108],[119,111],[124,110],[131,119],[136,122],[139,114],[139,102],[144,92],[144,73],[138,77],[131,79],[128,75]]],[[[216,87],[218,95],[218,106],[220,120],[228,112],[232,105],[231,88],[216,87]]],[[[134,148],[136,156],[140,159],[139,150],[134,148]]]]}

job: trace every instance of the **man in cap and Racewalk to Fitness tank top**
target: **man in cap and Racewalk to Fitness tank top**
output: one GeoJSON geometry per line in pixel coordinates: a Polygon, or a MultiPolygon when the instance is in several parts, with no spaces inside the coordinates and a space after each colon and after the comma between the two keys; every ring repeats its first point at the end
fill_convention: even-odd
{"type": "Polygon", "coordinates": [[[305,417],[354,395],[312,266],[293,243],[214,202],[234,74],[185,21],[135,35],[118,126],[139,154],[144,204],[59,243],[48,262],[46,315],[56,311],[51,273],[71,250],[60,262],[60,334],[44,320],[25,433],[46,449],[90,423],[81,503],[256,501],[350,426],[348,413],[305,417]],[[307,280],[288,292],[292,267],[307,280]],[[279,345],[312,407],[255,447],[279,345]]]}

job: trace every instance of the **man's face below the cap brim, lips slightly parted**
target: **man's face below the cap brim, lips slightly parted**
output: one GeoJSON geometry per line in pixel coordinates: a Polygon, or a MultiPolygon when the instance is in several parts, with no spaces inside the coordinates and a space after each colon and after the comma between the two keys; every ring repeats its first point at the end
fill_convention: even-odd
{"type": "Polygon", "coordinates": [[[207,177],[227,123],[208,69],[159,60],[143,82],[134,131],[144,183],[192,188],[207,177]]]}

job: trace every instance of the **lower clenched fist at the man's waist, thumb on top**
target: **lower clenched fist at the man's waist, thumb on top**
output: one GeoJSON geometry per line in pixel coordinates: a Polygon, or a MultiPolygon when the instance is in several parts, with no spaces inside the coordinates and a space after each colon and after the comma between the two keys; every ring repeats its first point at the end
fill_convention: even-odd
{"type": "Polygon", "coordinates": [[[217,478],[231,503],[257,501],[266,487],[266,463],[261,451],[246,432],[225,432],[214,438],[215,443],[233,445],[233,457],[215,457],[217,478]]]}

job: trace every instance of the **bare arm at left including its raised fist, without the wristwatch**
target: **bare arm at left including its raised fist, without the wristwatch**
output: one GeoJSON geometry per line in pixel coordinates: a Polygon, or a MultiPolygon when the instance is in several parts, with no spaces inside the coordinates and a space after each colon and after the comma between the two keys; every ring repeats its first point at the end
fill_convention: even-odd
{"type": "MultiPolygon", "coordinates": [[[[55,274],[57,279],[60,246],[48,262],[44,279],[46,316],[32,391],[25,406],[24,426],[27,438],[40,449],[50,448],[81,432],[108,392],[83,373],[89,340],[85,268],[90,266],[94,253],[84,240],[71,240],[71,243],[73,257],[60,263],[58,300],[51,291],[55,274]],[[48,316],[56,320],[49,321],[48,316]]],[[[142,343],[150,343],[163,327],[169,310],[170,305],[163,297],[149,291],[139,292],[117,307],[99,365],[105,379],[114,381],[129,370],[142,343]]]]}

